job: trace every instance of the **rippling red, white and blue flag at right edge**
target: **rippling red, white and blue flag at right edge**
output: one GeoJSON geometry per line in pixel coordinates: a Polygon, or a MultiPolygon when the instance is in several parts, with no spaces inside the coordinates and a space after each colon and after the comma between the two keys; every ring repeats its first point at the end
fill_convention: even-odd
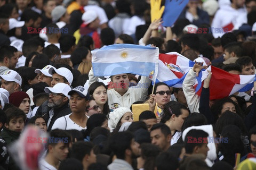
{"type": "Polygon", "coordinates": [[[209,66],[205,71],[201,71],[197,77],[195,89],[197,94],[201,95],[203,80],[212,72],[210,81],[210,100],[219,99],[233,95],[235,92],[249,91],[253,88],[255,75],[230,74],[214,66],[209,66]]]}

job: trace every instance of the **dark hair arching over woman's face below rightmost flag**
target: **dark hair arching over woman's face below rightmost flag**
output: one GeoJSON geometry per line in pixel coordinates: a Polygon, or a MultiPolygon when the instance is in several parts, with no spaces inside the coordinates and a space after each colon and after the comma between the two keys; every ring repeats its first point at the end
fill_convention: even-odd
{"type": "Polygon", "coordinates": [[[211,107],[211,113],[214,115],[215,121],[218,120],[219,115],[221,115],[222,107],[226,103],[233,104],[236,108],[236,113],[239,116],[242,116],[241,109],[239,108],[239,106],[232,99],[230,99],[228,97],[224,97],[224,98],[216,100],[211,107]]]}

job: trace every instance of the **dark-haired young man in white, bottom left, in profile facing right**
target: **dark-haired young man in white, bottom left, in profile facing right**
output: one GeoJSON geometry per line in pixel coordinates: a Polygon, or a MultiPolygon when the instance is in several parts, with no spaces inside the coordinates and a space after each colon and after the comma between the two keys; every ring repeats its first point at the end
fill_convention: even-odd
{"type": "Polygon", "coordinates": [[[47,154],[40,160],[39,168],[41,170],[57,170],[60,162],[68,157],[70,143],[71,137],[66,131],[52,130],[48,140],[47,154]]]}

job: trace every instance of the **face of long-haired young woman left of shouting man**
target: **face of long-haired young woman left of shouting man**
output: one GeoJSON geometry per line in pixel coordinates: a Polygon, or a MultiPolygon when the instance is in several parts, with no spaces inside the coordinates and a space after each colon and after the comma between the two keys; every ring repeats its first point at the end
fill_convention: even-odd
{"type": "Polygon", "coordinates": [[[92,96],[98,105],[104,105],[108,100],[107,90],[103,86],[97,87],[92,96]]]}

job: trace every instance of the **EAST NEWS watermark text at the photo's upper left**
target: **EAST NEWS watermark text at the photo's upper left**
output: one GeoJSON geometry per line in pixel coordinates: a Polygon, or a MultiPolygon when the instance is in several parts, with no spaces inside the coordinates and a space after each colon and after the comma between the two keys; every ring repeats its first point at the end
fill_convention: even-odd
{"type": "Polygon", "coordinates": [[[33,28],[28,27],[27,33],[46,33],[47,29],[49,29],[49,33],[68,33],[68,28],[54,28],[54,27],[48,27],[48,28],[33,28]]]}

